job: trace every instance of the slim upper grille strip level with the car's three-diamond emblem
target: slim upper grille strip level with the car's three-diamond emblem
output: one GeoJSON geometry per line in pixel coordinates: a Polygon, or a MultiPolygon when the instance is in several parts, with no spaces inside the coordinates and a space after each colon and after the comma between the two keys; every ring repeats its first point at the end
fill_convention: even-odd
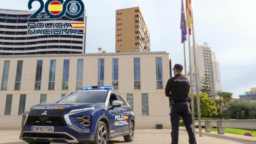
{"type": "Polygon", "coordinates": [[[41,116],[46,111],[47,116],[60,116],[65,115],[70,110],[30,110],[29,116],[41,116]]]}

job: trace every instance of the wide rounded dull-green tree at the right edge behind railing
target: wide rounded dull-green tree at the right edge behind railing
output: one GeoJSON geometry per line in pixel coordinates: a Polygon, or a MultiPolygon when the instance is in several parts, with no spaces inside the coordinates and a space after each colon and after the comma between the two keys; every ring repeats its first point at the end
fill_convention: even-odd
{"type": "Polygon", "coordinates": [[[256,119],[256,103],[251,100],[231,100],[227,108],[222,110],[224,118],[256,119]]]}

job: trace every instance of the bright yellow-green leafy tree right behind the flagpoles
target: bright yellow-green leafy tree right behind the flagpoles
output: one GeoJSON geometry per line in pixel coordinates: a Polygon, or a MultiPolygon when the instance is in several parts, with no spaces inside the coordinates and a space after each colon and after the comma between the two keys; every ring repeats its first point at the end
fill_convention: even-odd
{"type": "MultiPolygon", "coordinates": [[[[200,96],[201,115],[212,116],[213,114],[217,114],[215,101],[209,98],[206,93],[200,93],[199,96],[200,96]]],[[[198,111],[197,111],[196,94],[194,94],[194,109],[195,109],[195,115],[197,115],[198,111]]]]}

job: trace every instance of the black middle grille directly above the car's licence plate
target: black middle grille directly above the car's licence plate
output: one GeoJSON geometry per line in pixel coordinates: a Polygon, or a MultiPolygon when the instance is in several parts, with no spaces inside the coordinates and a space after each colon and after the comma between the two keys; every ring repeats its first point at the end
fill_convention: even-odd
{"type": "Polygon", "coordinates": [[[66,126],[64,118],[60,116],[28,116],[25,125],[32,126],[66,126]]]}

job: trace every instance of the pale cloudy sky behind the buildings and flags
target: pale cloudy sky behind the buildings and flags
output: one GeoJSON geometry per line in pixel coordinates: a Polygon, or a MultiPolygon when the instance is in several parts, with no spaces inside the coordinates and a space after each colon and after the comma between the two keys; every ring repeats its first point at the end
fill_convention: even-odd
{"type": "MultiPolygon", "coordinates": [[[[238,97],[256,87],[256,0],[193,2],[196,41],[207,42],[216,52],[222,89],[238,97]]],[[[27,4],[28,0],[6,0],[0,8],[28,10],[27,4]]],[[[169,52],[172,64],[184,64],[180,0],[84,0],[84,4],[87,53],[98,52],[98,47],[114,52],[115,10],[140,6],[150,32],[151,50],[169,52]]],[[[36,7],[34,2],[33,9],[36,7]]]]}

